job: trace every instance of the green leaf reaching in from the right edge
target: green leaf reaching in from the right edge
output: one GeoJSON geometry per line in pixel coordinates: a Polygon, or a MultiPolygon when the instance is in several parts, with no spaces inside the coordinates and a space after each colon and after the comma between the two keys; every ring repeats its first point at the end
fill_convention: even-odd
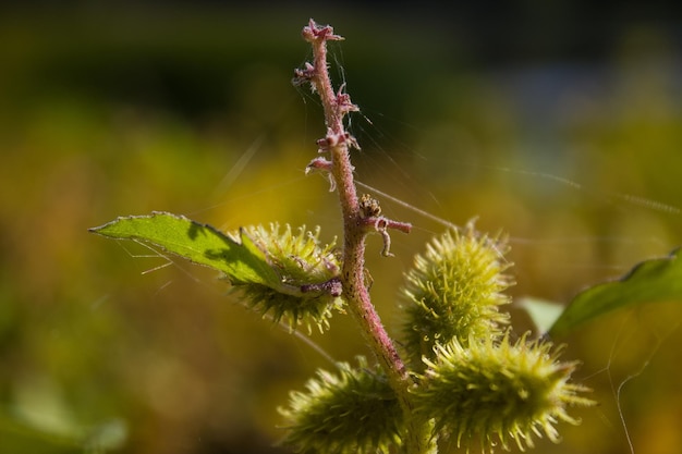
{"type": "Polygon", "coordinates": [[[548,334],[560,338],[586,321],[635,304],[682,302],[680,250],[675,249],[665,258],[643,261],[617,281],[581,292],[552,324],[548,334]]]}

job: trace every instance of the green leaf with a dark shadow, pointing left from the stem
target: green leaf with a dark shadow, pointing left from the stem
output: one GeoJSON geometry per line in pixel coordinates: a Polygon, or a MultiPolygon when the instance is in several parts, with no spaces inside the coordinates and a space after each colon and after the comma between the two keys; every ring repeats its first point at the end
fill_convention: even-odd
{"type": "Polygon", "coordinates": [[[222,271],[235,284],[280,285],[278,273],[268,265],[265,251],[240,230],[241,243],[184,216],[154,212],[149,216],[121,217],[90,229],[119,240],[134,240],[222,271]]]}

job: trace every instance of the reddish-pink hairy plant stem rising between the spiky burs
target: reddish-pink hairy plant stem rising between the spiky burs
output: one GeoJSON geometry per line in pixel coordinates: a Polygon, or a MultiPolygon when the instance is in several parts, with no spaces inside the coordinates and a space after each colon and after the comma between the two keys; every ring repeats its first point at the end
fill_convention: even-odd
{"type": "Polygon", "coordinates": [[[338,189],[343,217],[343,297],[398,395],[407,427],[403,438],[405,451],[410,454],[436,452],[428,421],[417,418],[413,412],[410,389],[415,383],[386,332],[365,285],[365,237],[368,229],[360,207],[349,152],[349,146],[355,145],[355,140],[343,125],[344,115],[357,110],[357,107],[342,93],[343,88],[334,94],[327,64],[327,41],[343,38],[334,35],[330,26],[319,26],[313,20],[303,28],[303,37],[313,47],[314,62],[297,71],[296,76],[299,81],[312,84],[325,110],[327,136],[318,144],[320,150],[329,151],[331,156],[329,171],[338,189]]]}

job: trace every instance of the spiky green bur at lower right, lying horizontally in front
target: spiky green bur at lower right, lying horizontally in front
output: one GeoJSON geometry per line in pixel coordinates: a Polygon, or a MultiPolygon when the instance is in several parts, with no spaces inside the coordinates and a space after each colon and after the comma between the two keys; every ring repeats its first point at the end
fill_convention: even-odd
{"type": "Polygon", "coordinates": [[[458,339],[438,345],[415,390],[418,412],[467,451],[475,440],[484,453],[498,443],[533,447],[533,435],[558,442],[558,421],[579,422],[567,407],[594,404],[579,395],[586,388],[569,382],[576,365],[559,363],[558,352],[526,336],[511,343],[508,335],[499,342],[472,338],[466,347],[458,339]]]}

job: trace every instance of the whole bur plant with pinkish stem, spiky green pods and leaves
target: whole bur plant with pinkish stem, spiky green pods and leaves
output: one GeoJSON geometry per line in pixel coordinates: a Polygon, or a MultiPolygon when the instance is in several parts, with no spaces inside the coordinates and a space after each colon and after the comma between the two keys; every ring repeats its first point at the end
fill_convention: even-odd
{"type": "MultiPolygon", "coordinates": [[[[246,304],[292,329],[326,328],[333,311],[355,318],[377,365],[358,358],[334,372],[320,370],[306,391],[292,392],[284,417],[283,443],[300,452],[375,453],[400,449],[436,453],[440,437],[482,451],[496,445],[532,447],[534,438],[558,442],[559,421],[576,424],[571,406],[589,406],[588,391],[572,380],[576,364],[559,360],[549,341],[522,335],[512,342],[509,303],[512,281],[506,271],[507,245],[468,225],[434,238],[415,257],[402,290],[403,346],[407,361],[388,336],[365,281],[365,237],[379,233],[390,256],[389,230],[410,224],[381,214],[378,200],[355,191],[350,148],[358,148],[343,119],[357,107],[348,94],[332,89],[326,44],[341,40],[330,26],[310,21],[303,37],[314,61],[296,70],[294,82],[320,96],[327,135],[308,164],[326,172],[337,189],[344,242],[322,246],[319,229],[245,226],[232,233],[182,216],[155,212],[118,218],[93,232],[142,242],[221,272],[242,292],[246,304]],[[328,158],[329,159],[328,159],[328,158]],[[346,310],[348,309],[348,310],[346,310]]],[[[637,266],[618,282],[581,293],[550,329],[563,335],[601,314],[633,304],[682,299],[678,253],[637,266]]]]}

